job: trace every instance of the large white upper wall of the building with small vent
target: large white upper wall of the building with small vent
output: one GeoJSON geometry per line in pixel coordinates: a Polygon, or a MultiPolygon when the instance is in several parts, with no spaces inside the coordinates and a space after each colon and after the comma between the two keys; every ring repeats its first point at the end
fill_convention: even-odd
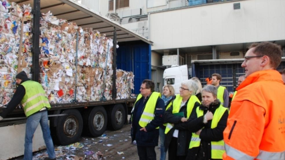
{"type": "Polygon", "coordinates": [[[282,6],[284,0],[243,0],[151,13],[152,49],[284,40],[282,6]]]}

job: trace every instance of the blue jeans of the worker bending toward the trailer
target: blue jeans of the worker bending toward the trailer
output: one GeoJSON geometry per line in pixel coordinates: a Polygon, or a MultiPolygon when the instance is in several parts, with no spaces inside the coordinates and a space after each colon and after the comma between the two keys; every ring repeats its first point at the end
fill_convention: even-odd
{"type": "Polygon", "coordinates": [[[24,160],[32,160],[33,158],[33,136],[39,123],[41,124],[43,139],[45,140],[48,157],[50,159],[54,159],[56,157],[52,137],[50,136],[50,128],[48,126],[47,111],[41,111],[29,116],[27,119],[24,160]]]}

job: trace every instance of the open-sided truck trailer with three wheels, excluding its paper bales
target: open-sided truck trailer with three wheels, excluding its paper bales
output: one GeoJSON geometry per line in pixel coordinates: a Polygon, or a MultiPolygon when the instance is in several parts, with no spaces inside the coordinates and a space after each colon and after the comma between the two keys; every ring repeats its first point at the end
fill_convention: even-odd
{"type": "MultiPolygon", "coordinates": [[[[49,118],[54,143],[61,145],[71,144],[76,142],[83,132],[97,137],[102,135],[107,127],[112,130],[118,130],[124,124],[127,124],[127,114],[129,108],[133,106],[135,98],[117,98],[116,78],[118,75],[116,75],[116,69],[133,72],[135,77],[133,94],[138,94],[142,80],[150,79],[151,77],[152,42],[72,0],[12,0],[12,2],[19,5],[33,5],[31,78],[34,81],[43,80],[41,67],[43,67],[44,62],[41,60],[43,57],[40,57],[39,54],[42,51],[39,43],[40,34],[42,33],[40,28],[43,27],[40,26],[40,17],[43,16],[41,12],[48,13],[48,11],[51,11],[54,16],[66,19],[68,24],[74,22],[82,28],[93,28],[92,31],[97,30],[101,34],[106,34],[107,38],[113,38],[113,73],[110,74],[112,75],[113,83],[112,90],[108,91],[111,98],[107,100],[100,98],[98,101],[78,101],[78,97],[76,98],[77,88],[84,86],[74,84],[75,89],[72,91],[75,92],[74,100],[68,103],[51,103],[52,108],[48,111],[49,115],[64,115],[49,118]],[[118,49],[117,44],[119,46],[118,49]],[[40,63],[42,65],[39,65],[40,63]]],[[[22,25],[24,23],[26,22],[23,22],[22,25]]],[[[80,33],[77,33],[77,37],[78,34],[80,33]]],[[[75,58],[79,58],[77,46],[75,58]]],[[[77,63],[77,59],[75,62],[77,63]]],[[[78,65],[76,64],[75,66],[77,67],[78,65]]],[[[74,72],[77,72],[77,70],[74,72]]],[[[17,117],[23,116],[23,109],[15,109],[7,117],[15,120],[0,122],[0,141],[5,144],[0,147],[0,159],[9,159],[23,155],[25,119],[17,120],[17,117]]],[[[33,140],[33,151],[44,148],[39,127],[35,132],[33,140]]]]}

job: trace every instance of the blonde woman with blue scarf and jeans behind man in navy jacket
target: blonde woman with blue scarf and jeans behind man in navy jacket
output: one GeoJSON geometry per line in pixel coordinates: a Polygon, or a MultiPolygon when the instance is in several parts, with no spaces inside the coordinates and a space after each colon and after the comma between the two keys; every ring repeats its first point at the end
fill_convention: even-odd
{"type": "MultiPolygon", "coordinates": [[[[163,94],[161,99],[164,101],[165,110],[167,110],[171,106],[171,101],[175,98],[175,91],[172,85],[167,84],[163,87],[163,94]]],[[[160,160],[165,160],[166,152],[164,148],[164,140],[165,140],[165,127],[166,123],[159,126],[159,139],[160,139],[160,160]]]]}

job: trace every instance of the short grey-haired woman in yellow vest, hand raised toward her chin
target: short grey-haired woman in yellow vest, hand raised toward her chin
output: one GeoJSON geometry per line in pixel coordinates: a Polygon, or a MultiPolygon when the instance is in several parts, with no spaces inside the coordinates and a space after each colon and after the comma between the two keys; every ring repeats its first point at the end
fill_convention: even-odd
{"type": "Polygon", "coordinates": [[[192,137],[186,159],[222,159],[225,152],[223,131],[227,118],[228,110],[217,99],[217,88],[206,85],[202,89],[202,104],[187,121],[192,137]]]}

